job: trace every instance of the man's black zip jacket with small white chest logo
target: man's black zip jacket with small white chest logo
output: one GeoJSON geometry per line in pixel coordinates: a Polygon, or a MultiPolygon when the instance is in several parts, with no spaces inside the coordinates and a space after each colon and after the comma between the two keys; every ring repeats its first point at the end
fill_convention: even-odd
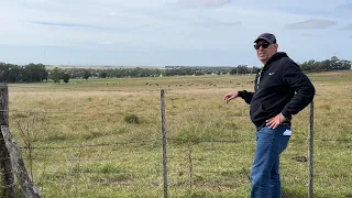
{"type": "Polygon", "coordinates": [[[292,116],[306,108],[315,94],[314,85],[299,66],[286,53],[278,52],[256,74],[254,92],[239,91],[239,97],[251,105],[251,120],[258,130],[278,113],[290,124],[292,116]]]}

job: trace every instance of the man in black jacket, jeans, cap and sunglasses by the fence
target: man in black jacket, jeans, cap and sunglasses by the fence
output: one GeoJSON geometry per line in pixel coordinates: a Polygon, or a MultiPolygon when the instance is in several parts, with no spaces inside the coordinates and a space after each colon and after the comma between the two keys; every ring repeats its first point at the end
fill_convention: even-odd
{"type": "Polygon", "coordinates": [[[316,90],[299,66],[286,53],[277,52],[275,35],[263,33],[254,43],[263,64],[254,80],[254,92],[229,92],[224,100],[241,97],[250,105],[251,120],[256,127],[251,197],[280,198],[279,154],[292,134],[292,117],[312,101],[316,90]]]}

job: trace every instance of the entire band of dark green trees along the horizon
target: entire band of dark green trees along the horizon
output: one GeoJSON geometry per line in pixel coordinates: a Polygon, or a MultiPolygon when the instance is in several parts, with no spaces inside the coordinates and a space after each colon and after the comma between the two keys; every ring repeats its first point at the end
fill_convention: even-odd
{"type": "MultiPolygon", "coordinates": [[[[330,59],[316,62],[314,59],[297,63],[305,73],[321,73],[351,69],[352,63],[332,56],[330,59]]],[[[38,82],[52,79],[54,82],[69,82],[70,78],[128,78],[160,76],[201,76],[201,75],[248,75],[256,74],[255,66],[239,65],[237,67],[205,66],[165,66],[165,68],[45,68],[43,64],[12,65],[0,63],[1,82],[38,82]]]]}

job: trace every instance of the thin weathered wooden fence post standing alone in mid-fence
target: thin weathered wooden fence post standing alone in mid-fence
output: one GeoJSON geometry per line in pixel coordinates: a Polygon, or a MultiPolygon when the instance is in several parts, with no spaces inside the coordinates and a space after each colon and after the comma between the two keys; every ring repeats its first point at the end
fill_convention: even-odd
{"type": "Polygon", "coordinates": [[[161,90],[162,106],[162,133],[163,133],[163,178],[164,198],[167,198],[167,157],[166,157],[166,125],[165,125],[165,91],[161,90]]]}

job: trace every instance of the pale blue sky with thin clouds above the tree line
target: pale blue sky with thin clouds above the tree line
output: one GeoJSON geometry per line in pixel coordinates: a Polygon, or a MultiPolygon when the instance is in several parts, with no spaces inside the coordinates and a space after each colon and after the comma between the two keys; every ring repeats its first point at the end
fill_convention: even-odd
{"type": "Polygon", "coordinates": [[[260,66],[275,34],[295,62],[352,59],[352,0],[0,0],[0,62],[260,66]]]}

